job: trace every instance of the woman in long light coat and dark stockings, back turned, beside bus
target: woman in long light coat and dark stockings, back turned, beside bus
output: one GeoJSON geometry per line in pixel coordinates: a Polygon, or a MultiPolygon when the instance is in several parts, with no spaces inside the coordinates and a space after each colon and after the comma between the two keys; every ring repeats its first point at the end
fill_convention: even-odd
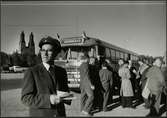
{"type": "Polygon", "coordinates": [[[134,93],[130,81],[130,71],[127,61],[120,66],[118,73],[121,77],[120,95],[122,96],[122,107],[132,107],[132,97],[134,96],[134,93]]]}

